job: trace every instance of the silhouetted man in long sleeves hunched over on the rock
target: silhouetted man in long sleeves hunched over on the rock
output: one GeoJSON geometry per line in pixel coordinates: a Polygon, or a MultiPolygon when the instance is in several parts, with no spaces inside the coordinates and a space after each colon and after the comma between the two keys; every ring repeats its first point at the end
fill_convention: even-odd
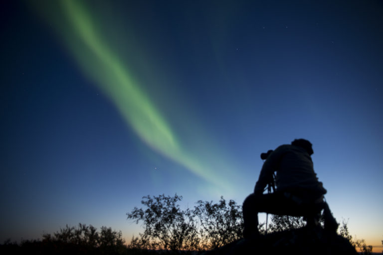
{"type": "Polygon", "coordinates": [[[244,238],[259,235],[258,212],[309,216],[321,211],[327,191],[314,172],[313,153],[308,140],[295,139],[291,145],[281,145],[267,156],[254,193],[243,202],[244,238]],[[267,184],[274,180],[275,171],[276,191],[263,194],[267,184]]]}

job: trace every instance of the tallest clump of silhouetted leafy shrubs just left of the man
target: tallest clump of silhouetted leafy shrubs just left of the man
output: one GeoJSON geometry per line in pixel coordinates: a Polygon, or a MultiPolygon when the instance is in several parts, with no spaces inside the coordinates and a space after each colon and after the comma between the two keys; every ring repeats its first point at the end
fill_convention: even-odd
{"type": "MultiPolygon", "coordinates": [[[[242,238],[242,207],[221,197],[218,203],[198,201],[182,210],[182,196],[143,197],[128,219],[143,222],[144,233],[132,238],[131,249],[210,250],[242,238]]],[[[263,230],[263,225],[260,227],[263,230]]]]}

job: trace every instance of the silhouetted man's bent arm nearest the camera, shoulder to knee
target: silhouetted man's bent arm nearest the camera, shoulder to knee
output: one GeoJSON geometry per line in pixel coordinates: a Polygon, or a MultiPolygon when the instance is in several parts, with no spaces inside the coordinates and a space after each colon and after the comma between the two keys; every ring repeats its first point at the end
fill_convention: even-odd
{"type": "Polygon", "coordinates": [[[262,194],[266,185],[271,182],[274,171],[278,170],[279,162],[284,152],[284,145],[276,148],[263,163],[259,178],[254,187],[254,193],[262,194]]]}

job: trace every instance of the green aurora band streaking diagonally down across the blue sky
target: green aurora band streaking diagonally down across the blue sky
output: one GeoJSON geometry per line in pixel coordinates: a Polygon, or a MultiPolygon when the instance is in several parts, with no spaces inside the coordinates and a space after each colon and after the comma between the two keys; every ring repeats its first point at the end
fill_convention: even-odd
{"type": "MultiPolygon", "coordinates": [[[[46,4],[47,3],[47,4],[46,4]]],[[[103,40],[102,31],[95,24],[93,16],[82,5],[82,1],[61,0],[62,16],[52,14],[51,2],[43,6],[44,16],[55,25],[73,57],[86,75],[112,100],[125,122],[151,148],[183,165],[210,184],[232,191],[232,184],[223,176],[224,169],[211,170],[211,162],[202,164],[192,153],[187,152],[165,118],[140,89],[139,83],[129,73],[127,66],[119,59],[112,47],[103,40]],[[206,167],[207,166],[207,167],[206,167]]],[[[41,6],[40,6],[41,7],[41,6]]],[[[212,159],[214,160],[214,159],[212,159]]]]}

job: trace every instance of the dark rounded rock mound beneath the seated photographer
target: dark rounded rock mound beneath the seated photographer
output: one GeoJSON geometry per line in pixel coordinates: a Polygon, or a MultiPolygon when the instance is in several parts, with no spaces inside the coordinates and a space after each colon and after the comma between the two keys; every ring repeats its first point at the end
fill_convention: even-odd
{"type": "Polygon", "coordinates": [[[204,255],[357,255],[350,242],[322,228],[271,233],[266,236],[241,239],[204,255]]]}

